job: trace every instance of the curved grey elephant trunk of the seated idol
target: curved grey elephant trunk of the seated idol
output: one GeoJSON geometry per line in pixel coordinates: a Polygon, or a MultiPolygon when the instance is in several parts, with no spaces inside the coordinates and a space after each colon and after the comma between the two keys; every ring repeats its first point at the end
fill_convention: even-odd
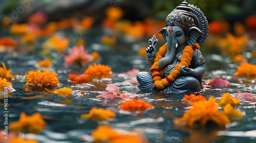
{"type": "Polygon", "coordinates": [[[161,69],[169,63],[171,63],[174,59],[176,48],[178,47],[178,43],[173,42],[173,38],[168,36],[167,39],[167,51],[165,53],[165,56],[159,60],[158,65],[161,69]]]}

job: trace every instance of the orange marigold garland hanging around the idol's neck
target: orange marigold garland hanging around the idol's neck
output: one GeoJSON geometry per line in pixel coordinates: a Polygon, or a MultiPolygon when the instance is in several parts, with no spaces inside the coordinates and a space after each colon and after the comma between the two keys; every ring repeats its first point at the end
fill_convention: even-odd
{"type": "Polygon", "coordinates": [[[174,70],[170,71],[168,77],[162,79],[164,73],[163,69],[160,69],[158,62],[160,59],[163,58],[165,52],[167,51],[167,46],[166,44],[164,44],[160,47],[154,60],[154,64],[150,68],[151,75],[153,77],[153,81],[155,82],[155,86],[157,89],[164,89],[164,87],[170,85],[170,83],[176,80],[176,78],[180,75],[180,68],[184,65],[186,67],[190,65],[195,49],[200,49],[200,45],[198,43],[195,43],[193,47],[190,45],[186,45],[182,52],[183,54],[180,60],[181,62],[175,66],[174,70]]]}

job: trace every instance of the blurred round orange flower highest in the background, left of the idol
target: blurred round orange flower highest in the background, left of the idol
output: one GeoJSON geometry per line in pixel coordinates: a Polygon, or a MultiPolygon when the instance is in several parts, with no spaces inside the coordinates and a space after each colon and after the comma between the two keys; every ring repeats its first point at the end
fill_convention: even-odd
{"type": "Polygon", "coordinates": [[[120,7],[115,7],[115,8],[109,7],[109,8],[106,8],[105,12],[108,18],[113,21],[116,21],[123,16],[123,11],[120,7]]]}

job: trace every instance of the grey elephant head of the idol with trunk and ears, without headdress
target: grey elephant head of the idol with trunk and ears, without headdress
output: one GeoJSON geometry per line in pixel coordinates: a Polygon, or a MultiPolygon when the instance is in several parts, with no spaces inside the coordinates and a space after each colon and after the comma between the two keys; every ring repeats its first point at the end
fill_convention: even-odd
{"type": "Polygon", "coordinates": [[[163,68],[171,63],[175,53],[183,50],[186,45],[194,46],[202,32],[197,27],[191,27],[187,31],[180,26],[166,26],[159,33],[162,34],[167,45],[165,56],[158,62],[159,67],[163,68]]]}

